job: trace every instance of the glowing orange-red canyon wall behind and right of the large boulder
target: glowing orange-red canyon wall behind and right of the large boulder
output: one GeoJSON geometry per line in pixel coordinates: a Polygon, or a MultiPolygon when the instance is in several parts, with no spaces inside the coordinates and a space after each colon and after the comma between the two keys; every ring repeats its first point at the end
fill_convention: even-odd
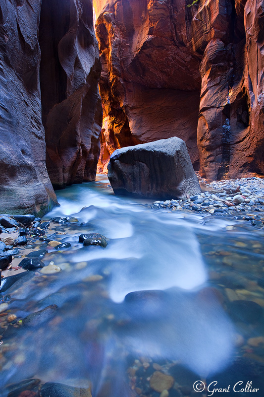
{"type": "Polygon", "coordinates": [[[264,174],[264,1],[94,5],[99,171],[118,147],[178,136],[208,180],[264,174]]]}

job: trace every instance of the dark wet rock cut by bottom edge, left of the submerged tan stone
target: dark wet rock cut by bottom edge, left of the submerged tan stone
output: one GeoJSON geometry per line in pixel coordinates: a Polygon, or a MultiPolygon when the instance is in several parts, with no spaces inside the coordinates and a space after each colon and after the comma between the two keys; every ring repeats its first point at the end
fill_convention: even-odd
{"type": "Polygon", "coordinates": [[[90,389],[66,386],[60,383],[45,383],[40,391],[41,397],[92,397],[90,389]]]}

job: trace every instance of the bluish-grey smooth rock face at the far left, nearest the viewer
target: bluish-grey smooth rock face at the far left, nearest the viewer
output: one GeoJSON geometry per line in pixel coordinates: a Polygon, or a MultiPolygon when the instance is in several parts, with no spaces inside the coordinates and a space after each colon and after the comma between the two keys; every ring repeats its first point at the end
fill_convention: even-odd
{"type": "Polygon", "coordinates": [[[56,196],[45,164],[38,24],[40,0],[0,2],[0,206],[45,213],[56,196]]]}

